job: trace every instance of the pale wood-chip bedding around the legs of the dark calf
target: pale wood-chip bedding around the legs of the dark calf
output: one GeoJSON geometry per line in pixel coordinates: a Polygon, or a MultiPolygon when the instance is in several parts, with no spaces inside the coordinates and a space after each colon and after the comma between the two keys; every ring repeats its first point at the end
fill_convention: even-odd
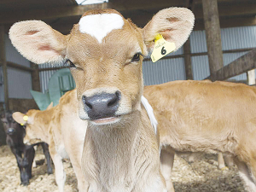
{"type": "MultiPolygon", "coordinates": [[[[1,192],[57,192],[55,175],[47,174],[47,167],[42,148],[38,148],[35,156],[38,166],[32,168],[32,179],[28,186],[20,185],[20,172],[15,155],[8,146],[0,147],[0,191],[1,192]]],[[[65,191],[77,192],[77,181],[71,164],[64,162],[67,176],[65,191]]]]}

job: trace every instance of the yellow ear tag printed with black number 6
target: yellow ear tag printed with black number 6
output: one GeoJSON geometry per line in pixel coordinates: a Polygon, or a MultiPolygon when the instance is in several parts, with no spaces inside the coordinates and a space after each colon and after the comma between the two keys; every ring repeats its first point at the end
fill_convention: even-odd
{"type": "Polygon", "coordinates": [[[153,62],[158,61],[175,49],[176,46],[174,43],[167,42],[163,36],[158,33],[154,38],[154,49],[151,54],[151,59],[153,62]]]}

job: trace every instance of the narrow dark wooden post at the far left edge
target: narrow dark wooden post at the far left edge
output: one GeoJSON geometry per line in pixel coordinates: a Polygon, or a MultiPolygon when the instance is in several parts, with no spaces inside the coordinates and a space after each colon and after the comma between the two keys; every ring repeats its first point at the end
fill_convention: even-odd
{"type": "Polygon", "coordinates": [[[5,109],[9,110],[9,90],[8,90],[8,78],[7,78],[7,62],[5,57],[4,46],[4,26],[0,25],[0,62],[3,68],[3,84],[4,84],[4,104],[5,109]]]}

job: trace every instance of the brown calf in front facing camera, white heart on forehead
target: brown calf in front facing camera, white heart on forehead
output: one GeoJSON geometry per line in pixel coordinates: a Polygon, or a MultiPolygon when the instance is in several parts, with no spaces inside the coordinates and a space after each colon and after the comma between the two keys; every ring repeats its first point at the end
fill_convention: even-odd
{"type": "Polygon", "coordinates": [[[157,137],[141,104],[143,55],[158,33],[180,48],[194,20],[189,9],[163,9],[141,29],[103,9],[86,12],[67,36],[37,20],[11,27],[12,43],[30,61],[71,67],[79,117],[89,120],[82,158],[89,191],[166,191],[157,137]]]}

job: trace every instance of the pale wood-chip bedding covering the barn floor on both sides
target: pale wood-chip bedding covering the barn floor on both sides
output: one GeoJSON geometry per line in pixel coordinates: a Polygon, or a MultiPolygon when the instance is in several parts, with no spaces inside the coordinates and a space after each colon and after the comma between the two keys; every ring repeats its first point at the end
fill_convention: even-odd
{"type": "MultiPolygon", "coordinates": [[[[55,176],[48,175],[42,149],[36,154],[38,166],[32,169],[32,179],[28,186],[20,185],[20,173],[14,154],[8,146],[0,147],[0,191],[3,192],[52,192],[57,191],[55,176]]],[[[67,181],[65,191],[76,192],[77,182],[71,164],[64,162],[67,181]]],[[[187,163],[187,157],[175,157],[172,180],[176,192],[243,192],[245,191],[236,167],[220,171],[217,155],[198,155],[194,163],[187,163]]]]}

